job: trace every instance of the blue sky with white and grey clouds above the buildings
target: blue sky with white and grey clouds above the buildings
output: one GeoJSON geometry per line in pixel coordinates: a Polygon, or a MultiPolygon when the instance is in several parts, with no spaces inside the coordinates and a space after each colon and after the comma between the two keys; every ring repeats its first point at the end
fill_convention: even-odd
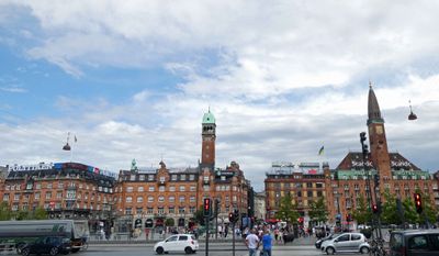
{"type": "Polygon", "coordinates": [[[216,167],[235,160],[262,190],[273,162],[334,169],[360,151],[371,81],[390,151],[439,170],[437,13],[428,0],[2,0],[0,166],[195,167],[210,109],[216,167]]]}

